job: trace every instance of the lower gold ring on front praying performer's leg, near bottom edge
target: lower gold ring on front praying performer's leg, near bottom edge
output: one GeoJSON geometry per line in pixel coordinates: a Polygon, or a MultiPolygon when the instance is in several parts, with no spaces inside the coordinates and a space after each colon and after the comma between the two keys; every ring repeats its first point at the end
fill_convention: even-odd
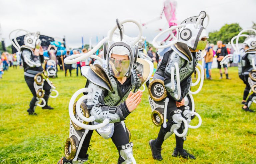
{"type": "Polygon", "coordinates": [[[65,158],[71,160],[76,155],[76,141],[73,138],[68,138],[65,143],[65,158]]]}

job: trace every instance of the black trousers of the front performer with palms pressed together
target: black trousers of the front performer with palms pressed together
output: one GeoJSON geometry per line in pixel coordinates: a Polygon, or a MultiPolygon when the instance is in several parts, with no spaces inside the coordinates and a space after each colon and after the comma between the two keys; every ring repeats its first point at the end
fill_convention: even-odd
{"type": "MultiPolygon", "coordinates": [[[[89,123],[89,124],[91,124],[91,123],[89,123]]],[[[115,144],[116,148],[129,143],[129,133],[127,132],[127,130],[126,131],[124,130],[124,127],[121,124],[121,122],[114,123],[114,127],[115,127],[115,129],[114,129],[114,133],[113,133],[113,136],[111,137],[111,139],[112,139],[113,143],[115,144]]],[[[84,139],[84,143],[83,143],[82,148],[78,155],[80,158],[86,157],[86,154],[87,154],[87,151],[89,148],[89,144],[91,141],[92,133],[93,133],[93,130],[89,130],[89,132],[87,133],[87,135],[84,139]]]]}

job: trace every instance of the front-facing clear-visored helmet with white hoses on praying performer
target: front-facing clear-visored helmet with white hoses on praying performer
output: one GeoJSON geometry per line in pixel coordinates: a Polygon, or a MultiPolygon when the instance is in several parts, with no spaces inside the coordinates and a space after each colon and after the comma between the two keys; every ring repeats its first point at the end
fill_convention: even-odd
{"type": "Polygon", "coordinates": [[[82,60],[95,58],[100,61],[101,66],[106,68],[110,73],[116,77],[129,77],[134,63],[137,61],[138,46],[136,43],[143,42],[142,26],[139,22],[133,19],[126,19],[116,23],[108,32],[107,37],[103,38],[91,51],[66,57],[64,63],[73,64],[82,60]],[[137,37],[130,37],[124,34],[124,23],[134,23],[139,29],[137,37]],[[93,55],[103,45],[104,60],[96,55],[93,55]],[[112,54],[127,56],[127,60],[114,59],[112,54]]]}

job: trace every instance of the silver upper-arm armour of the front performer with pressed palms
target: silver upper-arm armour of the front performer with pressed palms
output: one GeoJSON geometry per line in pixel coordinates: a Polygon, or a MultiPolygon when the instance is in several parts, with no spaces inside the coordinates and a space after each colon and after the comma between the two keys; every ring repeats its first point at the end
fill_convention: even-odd
{"type": "Polygon", "coordinates": [[[88,88],[92,88],[92,93],[90,95],[92,96],[92,99],[88,99],[86,106],[90,108],[90,106],[97,105],[99,103],[99,97],[102,95],[103,89],[93,83],[90,82],[88,88]]]}

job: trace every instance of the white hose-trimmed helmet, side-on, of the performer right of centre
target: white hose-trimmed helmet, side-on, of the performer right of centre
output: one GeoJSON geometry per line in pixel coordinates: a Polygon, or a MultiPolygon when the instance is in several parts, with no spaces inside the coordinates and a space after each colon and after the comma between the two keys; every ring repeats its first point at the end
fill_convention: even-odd
{"type": "Polygon", "coordinates": [[[159,49],[171,47],[177,42],[182,42],[187,44],[191,50],[203,50],[207,44],[208,32],[206,27],[209,24],[209,16],[205,11],[201,11],[198,16],[193,16],[185,19],[181,24],[172,26],[169,29],[166,29],[159,33],[152,41],[153,46],[159,49]],[[205,18],[208,18],[206,26],[204,26],[205,18]],[[177,36],[174,36],[173,33],[171,37],[173,40],[166,42],[165,45],[158,45],[156,39],[166,32],[170,32],[176,29],[177,36]]]}

